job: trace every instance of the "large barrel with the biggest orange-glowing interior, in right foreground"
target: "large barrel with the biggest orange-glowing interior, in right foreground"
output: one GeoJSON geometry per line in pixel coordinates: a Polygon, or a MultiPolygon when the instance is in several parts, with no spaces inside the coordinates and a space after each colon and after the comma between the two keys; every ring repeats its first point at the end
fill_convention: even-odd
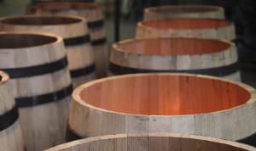
{"type": "Polygon", "coordinates": [[[73,92],[67,140],[179,132],[255,145],[255,110],[256,90],[239,82],[188,74],[113,76],[73,92]]]}

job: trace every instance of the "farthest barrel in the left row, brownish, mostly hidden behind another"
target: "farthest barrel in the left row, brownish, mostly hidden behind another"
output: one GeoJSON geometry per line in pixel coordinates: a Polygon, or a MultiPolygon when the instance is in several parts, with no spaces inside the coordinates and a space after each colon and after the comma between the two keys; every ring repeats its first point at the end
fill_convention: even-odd
{"type": "Polygon", "coordinates": [[[107,75],[108,46],[103,14],[98,5],[79,2],[36,3],[28,5],[27,14],[73,14],[84,17],[88,21],[91,44],[96,53],[96,76],[107,75]]]}

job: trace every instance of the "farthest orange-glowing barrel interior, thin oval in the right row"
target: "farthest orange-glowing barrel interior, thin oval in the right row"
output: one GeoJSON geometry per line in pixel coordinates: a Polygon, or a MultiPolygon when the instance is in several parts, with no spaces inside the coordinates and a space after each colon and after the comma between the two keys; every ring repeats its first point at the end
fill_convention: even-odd
{"type": "Polygon", "coordinates": [[[224,27],[231,24],[231,22],[225,20],[204,19],[150,20],[142,22],[143,26],[165,30],[208,29],[224,27]]]}

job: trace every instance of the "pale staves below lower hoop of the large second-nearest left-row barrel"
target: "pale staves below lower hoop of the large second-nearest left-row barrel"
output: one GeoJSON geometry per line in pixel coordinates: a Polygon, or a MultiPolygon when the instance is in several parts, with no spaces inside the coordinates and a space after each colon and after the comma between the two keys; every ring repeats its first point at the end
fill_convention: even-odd
{"type": "Polygon", "coordinates": [[[19,109],[27,151],[42,151],[65,143],[70,99],[19,109]]]}

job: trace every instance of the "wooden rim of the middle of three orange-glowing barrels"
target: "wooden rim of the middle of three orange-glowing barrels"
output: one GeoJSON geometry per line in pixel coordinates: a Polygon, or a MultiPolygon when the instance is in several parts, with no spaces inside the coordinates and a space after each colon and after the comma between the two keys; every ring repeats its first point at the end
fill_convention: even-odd
{"type": "Polygon", "coordinates": [[[166,40],[166,39],[195,39],[195,40],[202,40],[202,41],[211,41],[211,42],[221,42],[228,44],[229,47],[225,48],[223,50],[213,52],[213,53],[219,53],[219,52],[224,52],[226,50],[236,48],[236,45],[234,42],[230,42],[225,39],[213,39],[213,38],[199,38],[199,37],[193,37],[193,36],[173,36],[173,37],[143,37],[143,38],[137,38],[137,39],[126,39],[123,41],[119,41],[116,43],[113,43],[112,45],[112,50],[111,51],[116,51],[120,53],[127,53],[127,54],[137,54],[137,55],[143,55],[143,56],[162,56],[162,57],[167,57],[167,56],[177,56],[177,55],[200,55],[200,54],[211,54],[211,53],[195,53],[195,54],[189,54],[189,53],[184,53],[184,54],[145,54],[145,53],[137,53],[137,52],[131,52],[131,51],[125,51],[124,49],[120,49],[119,45],[129,43],[129,42],[139,42],[139,41],[147,41],[147,40],[154,40],[154,39],[161,39],[161,40],[166,40]]]}

